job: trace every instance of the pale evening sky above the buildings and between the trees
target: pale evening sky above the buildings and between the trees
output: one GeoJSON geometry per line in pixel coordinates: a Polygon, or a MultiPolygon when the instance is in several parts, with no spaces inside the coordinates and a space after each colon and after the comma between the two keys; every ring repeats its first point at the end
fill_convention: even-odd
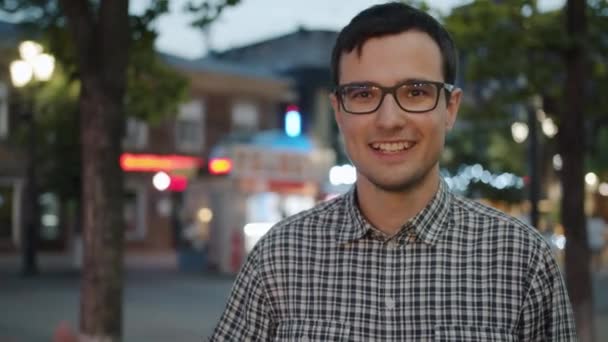
{"type": "MultiPolygon", "coordinates": [[[[131,0],[131,10],[141,11],[150,0],[131,0]]],[[[156,23],[158,50],[184,58],[204,56],[208,46],[222,51],[307,29],[340,30],[361,10],[382,0],[241,0],[227,8],[213,23],[209,40],[200,30],[190,27],[191,18],[182,9],[187,0],[171,0],[171,13],[156,23]]],[[[467,0],[429,0],[432,8],[442,13],[467,0]]],[[[564,0],[539,0],[541,8],[562,6],[564,0]]]]}

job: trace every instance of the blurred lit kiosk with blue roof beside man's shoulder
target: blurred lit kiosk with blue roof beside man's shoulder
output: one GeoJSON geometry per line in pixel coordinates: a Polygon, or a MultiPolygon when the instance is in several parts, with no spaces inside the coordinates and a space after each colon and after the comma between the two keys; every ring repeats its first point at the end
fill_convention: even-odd
{"type": "Polygon", "coordinates": [[[208,267],[237,272],[255,243],[281,219],[312,208],[334,154],[305,136],[269,131],[247,141],[216,146],[210,160],[226,166],[224,174],[201,179],[188,188],[190,234],[207,253],[208,267]],[[228,169],[226,171],[226,169],[228,169]],[[206,213],[206,214],[205,214],[206,213]],[[211,216],[211,218],[209,217],[211,216]],[[206,222],[205,222],[206,221],[206,222]]]}

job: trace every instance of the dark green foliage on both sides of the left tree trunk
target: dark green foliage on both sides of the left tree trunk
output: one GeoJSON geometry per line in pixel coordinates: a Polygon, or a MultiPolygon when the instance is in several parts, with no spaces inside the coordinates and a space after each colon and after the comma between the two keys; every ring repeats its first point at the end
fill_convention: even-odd
{"type": "MultiPolygon", "coordinates": [[[[30,32],[29,36],[36,36],[57,60],[53,78],[45,84],[35,85],[39,90],[34,98],[40,131],[39,176],[46,190],[56,192],[62,198],[78,198],[81,151],[76,50],[61,19],[60,9],[51,3],[55,1],[0,0],[0,9],[16,13],[22,20],[22,30],[30,32]],[[42,3],[44,6],[38,10],[32,7],[42,3]],[[48,16],[42,20],[41,13],[48,16]]],[[[130,16],[131,49],[125,114],[152,124],[175,115],[178,104],[185,100],[188,92],[186,78],[166,65],[154,50],[157,33],[153,23],[167,11],[168,2],[160,0],[154,1],[141,15],[130,16]]],[[[23,133],[19,135],[23,136],[23,133]]]]}

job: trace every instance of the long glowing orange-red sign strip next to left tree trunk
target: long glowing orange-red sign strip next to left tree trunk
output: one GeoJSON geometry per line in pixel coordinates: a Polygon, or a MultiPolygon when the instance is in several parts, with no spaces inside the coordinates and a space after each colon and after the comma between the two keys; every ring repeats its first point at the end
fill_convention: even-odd
{"type": "Polygon", "coordinates": [[[203,160],[197,157],[180,155],[132,154],[120,156],[120,167],[123,171],[158,172],[197,169],[203,160]]]}

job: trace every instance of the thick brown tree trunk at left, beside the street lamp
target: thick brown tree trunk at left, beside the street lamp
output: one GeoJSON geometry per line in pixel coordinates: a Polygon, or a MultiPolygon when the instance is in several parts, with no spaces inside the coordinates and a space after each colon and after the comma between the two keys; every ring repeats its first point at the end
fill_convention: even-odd
{"type": "Polygon", "coordinates": [[[81,79],[83,242],[80,335],[122,339],[124,222],[119,166],[124,118],[128,1],[61,0],[81,79]]]}

